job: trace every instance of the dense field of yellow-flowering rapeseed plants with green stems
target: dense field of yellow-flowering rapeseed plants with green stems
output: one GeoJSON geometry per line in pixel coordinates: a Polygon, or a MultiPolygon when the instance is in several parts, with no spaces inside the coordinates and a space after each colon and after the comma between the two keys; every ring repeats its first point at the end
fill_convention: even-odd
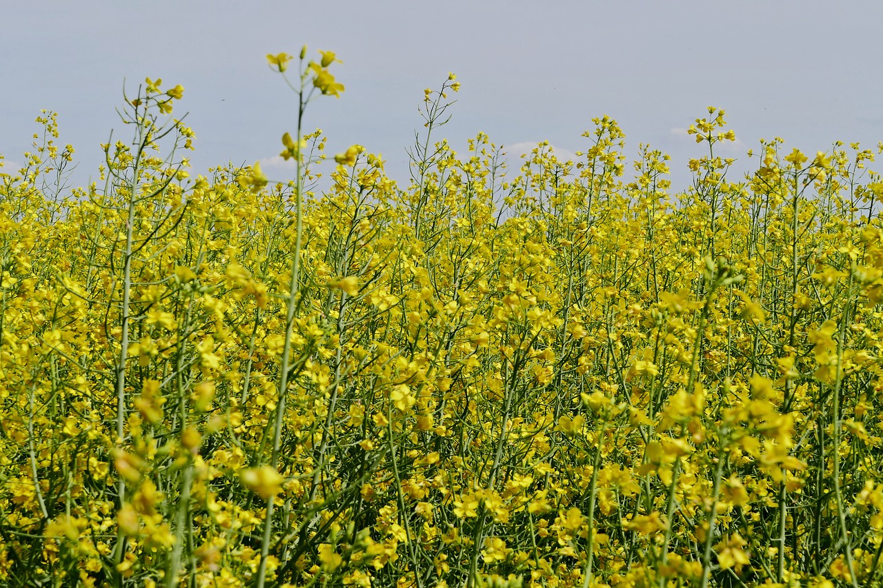
{"type": "Polygon", "coordinates": [[[610,117],[507,169],[450,74],[397,183],[311,55],[291,181],[191,176],[152,79],[92,185],[53,112],[0,170],[0,585],[881,585],[876,149],[732,177],[709,108],[683,192],[610,117]]]}

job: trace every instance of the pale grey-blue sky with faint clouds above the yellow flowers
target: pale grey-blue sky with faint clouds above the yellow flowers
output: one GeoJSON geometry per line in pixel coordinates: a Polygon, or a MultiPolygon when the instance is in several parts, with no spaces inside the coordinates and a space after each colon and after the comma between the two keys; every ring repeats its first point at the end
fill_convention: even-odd
{"type": "Polygon", "coordinates": [[[132,93],[146,77],[185,87],[174,115],[196,133],[192,175],[260,161],[271,180],[291,179],[277,155],[296,96],[266,55],[304,44],[316,59],[336,52],[346,88],[309,104],[306,131],[321,128],[332,154],[354,143],[381,154],[402,187],[423,90],[449,72],[462,88],[436,136],[464,153],[486,132],[510,174],[542,140],[572,157],[592,117],[609,115],[630,160],[639,143],[668,153],[683,190],[688,160],[706,153],[686,128],[711,105],[736,132],[720,152],[737,160],[731,179],[756,167],[745,154],[761,138],[809,154],[883,140],[879,0],[45,0],[4,3],[0,19],[6,171],[24,161],[40,110],[55,110],[59,141],[76,149],[72,185],[97,177],[111,131],[131,139],[116,109],[124,84],[132,93]]]}

